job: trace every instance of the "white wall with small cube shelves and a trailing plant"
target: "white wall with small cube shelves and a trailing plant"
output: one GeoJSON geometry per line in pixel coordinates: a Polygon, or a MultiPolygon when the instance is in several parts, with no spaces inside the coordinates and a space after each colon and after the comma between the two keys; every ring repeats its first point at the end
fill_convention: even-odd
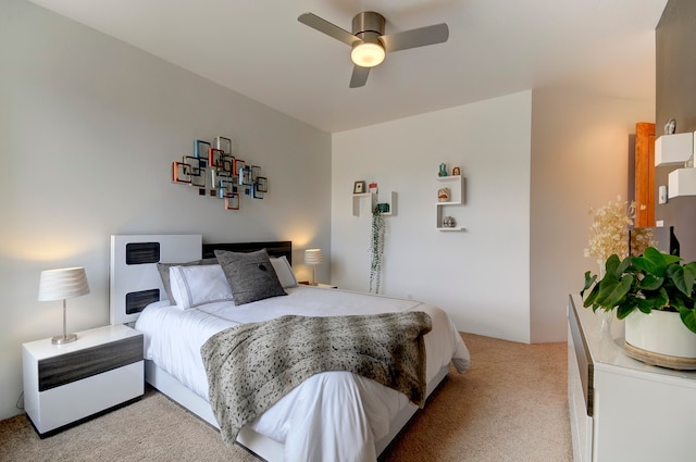
{"type": "Polygon", "coordinates": [[[355,180],[375,180],[387,220],[383,294],[445,309],[460,330],[530,340],[532,92],[333,135],[332,283],[368,290],[371,216],[352,216],[355,180]],[[436,225],[440,162],[465,176],[463,233],[436,225]]]}

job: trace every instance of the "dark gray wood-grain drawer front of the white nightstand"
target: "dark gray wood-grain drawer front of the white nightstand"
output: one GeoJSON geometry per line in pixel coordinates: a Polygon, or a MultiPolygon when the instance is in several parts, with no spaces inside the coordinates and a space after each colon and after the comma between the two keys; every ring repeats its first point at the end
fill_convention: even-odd
{"type": "Polygon", "coordinates": [[[141,335],[41,360],[38,363],[39,391],[141,360],[141,335]]]}

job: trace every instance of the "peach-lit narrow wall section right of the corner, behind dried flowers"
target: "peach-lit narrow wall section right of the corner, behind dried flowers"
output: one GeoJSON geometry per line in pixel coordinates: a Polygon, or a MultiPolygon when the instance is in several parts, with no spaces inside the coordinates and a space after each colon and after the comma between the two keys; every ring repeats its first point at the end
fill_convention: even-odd
{"type": "Polygon", "coordinates": [[[568,295],[597,271],[583,257],[589,208],[627,200],[630,135],[655,120],[655,105],[547,89],[534,91],[532,107],[532,341],[558,341],[568,295]]]}

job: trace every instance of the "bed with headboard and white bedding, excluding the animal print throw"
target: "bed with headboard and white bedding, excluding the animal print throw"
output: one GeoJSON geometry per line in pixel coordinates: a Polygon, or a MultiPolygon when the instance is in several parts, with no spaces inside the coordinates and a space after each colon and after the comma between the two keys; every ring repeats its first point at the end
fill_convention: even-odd
{"type": "MultiPolygon", "coordinates": [[[[425,312],[432,320],[432,332],[423,337],[426,396],[446,377],[450,362],[459,372],[469,366],[467,347],[443,310],[413,300],[298,285],[290,269],[291,259],[289,241],[203,245],[200,235],[112,236],[111,323],[130,323],[142,332],[146,380],[216,428],[220,425],[210,404],[201,346],[211,336],[247,323],[294,314],[425,312]],[[196,288],[192,291],[203,299],[195,308],[188,307],[179,292],[167,296],[167,290],[179,290],[176,286],[184,285],[177,279],[172,280],[172,287],[165,287],[161,272],[169,265],[163,263],[200,263],[213,258],[215,250],[259,249],[266,249],[286,295],[235,305],[234,300],[220,295],[206,299],[207,295],[200,295],[203,290],[196,288]],[[184,301],[173,307],[170,298],[184,301]]],[[[199,269],[176,267],[202,274],[199,269]]],[[[178,273],[171,274],[179,277],[178,273]]],[[[198,287],[198,283],[191,284],[198,287]]],[[[343,371],[323,372],[241,427],[236,442],[272,462],[375,461],[418,409],[403,394],[369,378],[343,371]]]]}

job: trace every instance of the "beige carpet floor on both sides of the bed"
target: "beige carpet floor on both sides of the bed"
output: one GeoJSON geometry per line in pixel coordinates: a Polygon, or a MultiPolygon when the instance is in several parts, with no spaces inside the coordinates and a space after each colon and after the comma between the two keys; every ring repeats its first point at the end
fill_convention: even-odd
{"type": "MultiPolygon", "coordinates": [[[[572,461],[566,344],[523,345],[462,334],[472,355],[450,371],[382,462],[572,461]]],[[[25,415],[0,422],[0,461],[258,462],[149,390],[138,402],[39,439],[25,415]]]]}

